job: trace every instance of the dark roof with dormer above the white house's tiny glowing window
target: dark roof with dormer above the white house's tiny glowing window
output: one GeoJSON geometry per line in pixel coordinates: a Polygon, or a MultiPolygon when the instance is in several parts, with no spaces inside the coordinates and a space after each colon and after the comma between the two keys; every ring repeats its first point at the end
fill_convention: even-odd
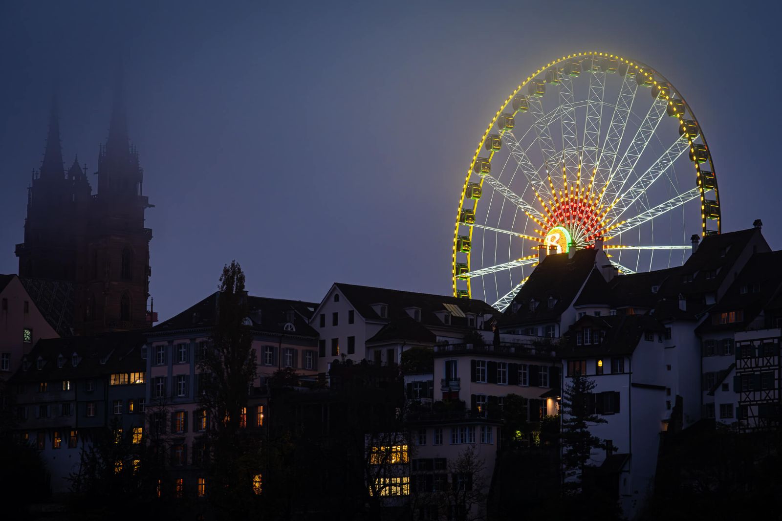
{"type": "Polygon", "coordinates": [[[586,315],[573,324],[565,339],[560,353],[562,358],[594,358],[617,354],[632,354],[644,332],[665,332],[665,327],[656,318],[648,314],[616,314],[608,317],[586,315]],[[577,346],[575,330],[584,325],[603,330],[605,336],[599,345],[577,346]]]}

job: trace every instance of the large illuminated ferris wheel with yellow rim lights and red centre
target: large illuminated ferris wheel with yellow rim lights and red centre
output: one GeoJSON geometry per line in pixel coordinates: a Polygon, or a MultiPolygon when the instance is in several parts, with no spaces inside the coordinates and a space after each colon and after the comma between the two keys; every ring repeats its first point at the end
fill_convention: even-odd
{"type": "Polygon", "coordinates": [[[683,264],[720,231],[712,156],[683,95],[644,63],[579,52],[505,99],[472,156],[457,210],[454,296],[511,303],[544,246],[594,248],[619,271],[683,264]]]}

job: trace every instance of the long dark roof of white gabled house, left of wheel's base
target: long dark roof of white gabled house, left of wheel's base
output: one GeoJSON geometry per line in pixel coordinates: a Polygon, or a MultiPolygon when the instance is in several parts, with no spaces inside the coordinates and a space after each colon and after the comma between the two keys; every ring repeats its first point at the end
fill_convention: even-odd
{"type": "MultiPolygon", "coordinates": [[[[399,289],[375,288],[371,286],[356,286],[354,284],[345,284],[343,282],[335,283],[335,286],[350,304],[356,308],[358,314],[364,319],[375,321],[393,321],[397,318],[409,318],[407,309],[418,307],[421,309],[421,324],[443,326],[443,322],[438,318],[438,311],[449,311],[446,304],[453,305],[461,310],[462,313],[472,313],[475,315],[497,314],[497,310],[486,302],[477,299],[457,298],[448,295],[432,295],[430,293],[414,293],[411,291],[400,291],[399,289]],[[381,317],[372,307],[372,304],[386,304],[387,317],[381,317]]],[[[467,318],[451,315],[451,325],[467,326],[467,318]]]]}

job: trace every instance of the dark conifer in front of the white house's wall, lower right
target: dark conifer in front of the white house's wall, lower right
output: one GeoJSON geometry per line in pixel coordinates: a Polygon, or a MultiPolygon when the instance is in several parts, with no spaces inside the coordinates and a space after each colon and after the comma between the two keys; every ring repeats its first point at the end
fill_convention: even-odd
{"type": "Polygon", "coordinates": [[[594,449],[614,450],[612,445],[594,436],[590,426],[608,421],[594,412],[594,380],[576,373],[565,385],[562,400],[562,466],[565,476],[575,480],[565,483],[565,490],[571,494],[581,492],[584,470],[590,466],[594,449]]]}

